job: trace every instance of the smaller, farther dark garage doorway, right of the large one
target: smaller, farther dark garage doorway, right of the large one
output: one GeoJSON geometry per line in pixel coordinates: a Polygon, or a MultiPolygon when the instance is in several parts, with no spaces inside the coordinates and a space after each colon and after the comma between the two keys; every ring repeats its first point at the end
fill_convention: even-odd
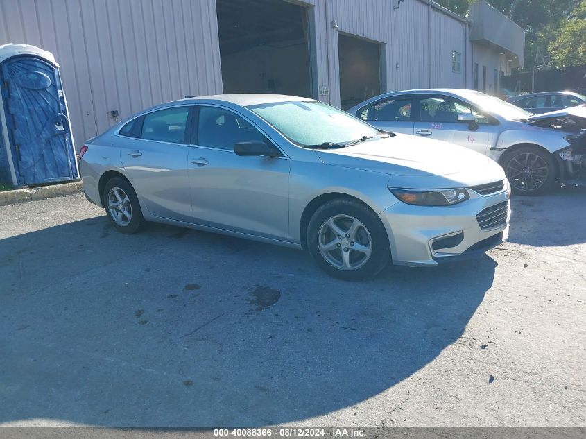
{"type": "Polygon", "coordinates": [[[381,44],[338,34],[343,110],[381,94],[381,44]]]}

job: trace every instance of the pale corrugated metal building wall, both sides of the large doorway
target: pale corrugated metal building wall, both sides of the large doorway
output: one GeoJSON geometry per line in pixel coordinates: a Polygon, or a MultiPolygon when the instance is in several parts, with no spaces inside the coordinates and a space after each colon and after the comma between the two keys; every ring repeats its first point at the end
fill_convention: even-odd
{"type": "MultiPolygon", "coordinates": [[[[381,44],[383,89],[472,86],[468,25],[428,0],[398,10],[390,0],[288,1],[309,8],[313,86],[329,90],[323,101],[340,104],[338,32],[381,44]],[[451,71],[452,50],[462,54],[460,74],[451,71]]],[[[123,118],[222,92],[215,0],[0,0],[6,42],[55,54],[78,149],[116,122],[110,110],[123,118]]]]}

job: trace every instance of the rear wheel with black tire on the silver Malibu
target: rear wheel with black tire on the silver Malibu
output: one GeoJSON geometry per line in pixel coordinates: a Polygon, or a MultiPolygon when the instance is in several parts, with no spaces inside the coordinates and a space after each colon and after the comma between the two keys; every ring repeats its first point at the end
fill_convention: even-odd
{"type": "Polygon", "coordinates": [[[132,188],[132,185],[123,178],[114,177],[108,180],[104,187],[103,200],[106,215],[108,219],[110,219],[112,225],[114,225],[114,227],[119,232],[133,234],[139,232],[139,230],[141,230],[146,224],[144,216],[142,216],[142,210],[140,208],[137,193],[135,192],[135,189],[132,188]],[[122,194],[124,196],[128,196],[128,201],[126,201],[126,197],[121,198],[124,201],[123,210],[127,213],[130,213],[130,220],[128,220],[128,216],[126,216],[126,214],[121,214],[123,221],[117,221],[117,218],[114,214],[114,212],[116,212],[117,209],[111,209],[109,207],[110,196],[112,196],[113,200],[119,200],[119,198],[116,197],[116,194],[118,194],[119,196],[121,196],[122,194]]]}

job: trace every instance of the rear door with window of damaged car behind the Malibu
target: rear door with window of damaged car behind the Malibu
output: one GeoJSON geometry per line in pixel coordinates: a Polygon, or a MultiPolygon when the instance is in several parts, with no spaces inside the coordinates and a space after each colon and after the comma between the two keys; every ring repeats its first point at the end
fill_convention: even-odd
{"type": "Polygon", "coordinates": [[[380,130],[413,134],[412,96],[392,96],[358,110],[356,116],[380,130]]]}

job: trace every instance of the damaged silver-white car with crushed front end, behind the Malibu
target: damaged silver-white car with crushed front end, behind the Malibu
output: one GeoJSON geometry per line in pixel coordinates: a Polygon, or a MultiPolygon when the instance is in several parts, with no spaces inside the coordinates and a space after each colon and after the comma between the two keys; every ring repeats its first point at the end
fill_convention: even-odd
{"type": "Polygon", "coordinates": [[[512,191],[586,184],[586,105],[533,115],[467,89],[419,89],[370,98],[350,114],[386,131],[448,141],[489,155],[512,191]]]}

